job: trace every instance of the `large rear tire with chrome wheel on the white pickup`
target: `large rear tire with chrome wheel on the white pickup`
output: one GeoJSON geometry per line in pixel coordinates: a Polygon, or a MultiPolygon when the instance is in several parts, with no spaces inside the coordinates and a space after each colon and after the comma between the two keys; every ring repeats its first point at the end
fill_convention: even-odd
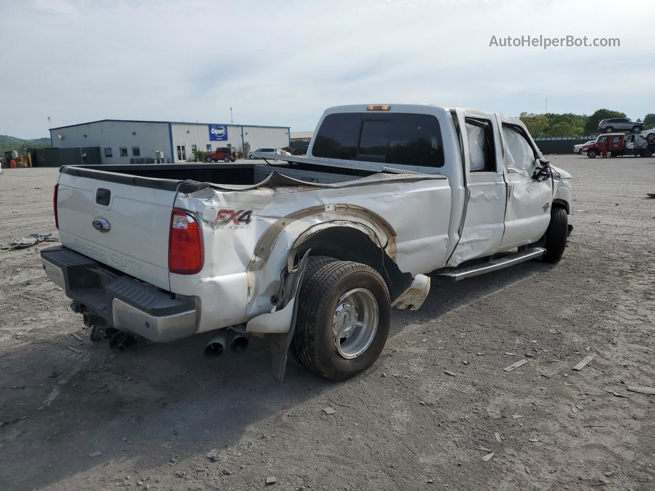
{"type": "Polygon", "coordinates": [[[384,348],[391,317],[389,291],[377,271],[352,261],[331,261],[305,277],[298,302],[293,344],[307,369],[341,382],[375,363],[384,348]],[[371,322],[375,309],[377,325],[371,322]],[[366,321],[364,314],[369,322],[351,326],[346,337],[349,321],[366,321]],[[339,338],[333,327],[341,327],[336,333],[339,338]]]}

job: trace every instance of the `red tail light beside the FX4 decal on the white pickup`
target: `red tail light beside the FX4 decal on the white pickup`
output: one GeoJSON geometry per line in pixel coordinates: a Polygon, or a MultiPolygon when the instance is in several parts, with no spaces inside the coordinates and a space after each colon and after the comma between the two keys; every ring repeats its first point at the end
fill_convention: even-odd
{"type": "Polygon", "coordinates": [[[170,217],[168,270],[176,274],[196,274],[202,269],[203,263],[200,224],[183,209],[173,208],[170,217]]]}

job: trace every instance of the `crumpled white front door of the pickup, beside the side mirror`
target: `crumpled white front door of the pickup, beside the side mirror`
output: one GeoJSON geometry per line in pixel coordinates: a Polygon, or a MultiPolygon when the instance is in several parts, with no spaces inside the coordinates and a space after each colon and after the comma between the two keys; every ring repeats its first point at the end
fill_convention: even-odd
{"type": "Polygon", "coordinates": [[[504,122],[502,138],[508,199],[500,245],[507,248],[531,244],[544,235],[550,223],[553,183],[532,177],[538,155],[523,128],[504,122]]]}

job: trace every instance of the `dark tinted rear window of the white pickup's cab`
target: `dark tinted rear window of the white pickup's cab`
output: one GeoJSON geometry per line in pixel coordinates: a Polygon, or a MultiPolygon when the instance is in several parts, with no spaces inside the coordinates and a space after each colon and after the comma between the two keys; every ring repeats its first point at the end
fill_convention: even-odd
{"type": "Polygon", "coordinates": [[[322,122],[312,155],[406,166],[443,166],[436,117],[412,113],[340,113],[322,122]]]}

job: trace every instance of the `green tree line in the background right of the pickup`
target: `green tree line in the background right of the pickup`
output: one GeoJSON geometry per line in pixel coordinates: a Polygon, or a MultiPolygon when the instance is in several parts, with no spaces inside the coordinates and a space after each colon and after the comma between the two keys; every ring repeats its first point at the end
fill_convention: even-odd
{"type": "MultiPolygon", "coordinates": [[[[591,116],[573,113],[521,113],[519,116],[534,138],[595,135],[598,133],[600,120],[608,118],[626,118],[626,113],[599,109],[591,116]]],[[[637,121],[641,121],[641,118],[637,121]]],[[[645,130],[655,128],[655,114],[647,114],[643,122],[645,130]]]]}

